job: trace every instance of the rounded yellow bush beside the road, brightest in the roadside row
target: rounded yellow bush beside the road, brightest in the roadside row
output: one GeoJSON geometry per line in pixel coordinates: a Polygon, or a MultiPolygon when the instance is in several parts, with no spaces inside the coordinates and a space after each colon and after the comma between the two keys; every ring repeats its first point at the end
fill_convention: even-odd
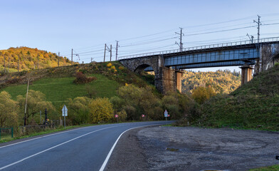
{"type": "Polygon", "coordinates": [[[112,103],[108,98],[96,98],[88,107],[92,123],[109,121],[113,118],[112,103]]]}

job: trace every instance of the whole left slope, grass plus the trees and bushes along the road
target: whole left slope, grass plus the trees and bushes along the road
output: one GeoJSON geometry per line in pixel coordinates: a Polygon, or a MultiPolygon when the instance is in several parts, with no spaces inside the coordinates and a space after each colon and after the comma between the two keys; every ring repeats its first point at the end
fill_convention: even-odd
{"type": "MultiPolygon", "coordinates": [[[[136,75],[118,62],[5,73],[0,76],[0,98],[5,102],[0,105],[5,108],[1,110],[5,115],[0,115],[0,121],[3,120],[0,128],[13,127],[15,137],[37,133],[40,130],[37,127],[46,122],[45,109],[48,124],[61,125],[63,105],[69,113],[66,125],[162,120],[164,110],[177,120],[189,113],[194,106],[189,95],[162,95],[152,85],[152,79],[154,76],[136,75]],[[24,113],[30,129],[23,128],[24,113]]],[[[41,127],[41,130],[56,128],[41,127]]]]}

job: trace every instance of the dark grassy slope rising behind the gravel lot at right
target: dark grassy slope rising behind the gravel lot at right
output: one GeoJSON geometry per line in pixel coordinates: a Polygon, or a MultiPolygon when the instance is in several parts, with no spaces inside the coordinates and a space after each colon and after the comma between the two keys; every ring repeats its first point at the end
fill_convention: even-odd
{"type": "Polygon", "coordinates": [[[279,130],[279,65],[263,71],[229,95],[201,106],[196,123],[212,127],[279,130]]]}

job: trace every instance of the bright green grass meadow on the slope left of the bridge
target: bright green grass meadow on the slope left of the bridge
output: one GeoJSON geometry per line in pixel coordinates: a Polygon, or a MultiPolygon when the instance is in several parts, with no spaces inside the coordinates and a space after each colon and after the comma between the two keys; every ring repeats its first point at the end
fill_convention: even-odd
{"type": "MultiPolygon", "coordinates": [[[[93,74],[97,80],[88,84],[75,84],[73,77],[68,78],[42,78],[41,80],[31,83],[29,90],[38,90],[46,95],[46,100],[51,101],[56,108],[65,103],[68,98],[76,98],[88,96],[86,86],[89,85],[96,90],[95,97],[110,98],[116,95],[116,90],[119,87],[117,81],[112,81],[106,76],[93,74]]],[[[11,97],[16,100],[17,95],[26,94],[27,85],[9,86],[5,90],[11,94],[11,97]]],[[[1,91],[2,91],[1,90],[1,91]]]]}

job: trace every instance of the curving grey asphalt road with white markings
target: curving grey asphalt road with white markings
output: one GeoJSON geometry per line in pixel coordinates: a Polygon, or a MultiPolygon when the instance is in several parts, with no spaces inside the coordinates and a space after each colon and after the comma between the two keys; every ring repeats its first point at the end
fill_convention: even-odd
{"type": "Polygon", "coordinates": [[[11,143],[0,147],[0,170],[102,170],[123,132],[170,122],[98,125],[11,143]]]}

